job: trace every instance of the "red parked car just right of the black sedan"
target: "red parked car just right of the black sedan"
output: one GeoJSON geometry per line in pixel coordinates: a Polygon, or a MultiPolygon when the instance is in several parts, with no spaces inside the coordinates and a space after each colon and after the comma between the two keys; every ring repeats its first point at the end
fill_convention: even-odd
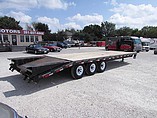
{"type": "Polygon", "coordinates": [[[56,46],[56,44],[46,44],[43,46],[44,48],[48,48],[50,52],[60,52],[62,50],[61,47],[56,46]]]}

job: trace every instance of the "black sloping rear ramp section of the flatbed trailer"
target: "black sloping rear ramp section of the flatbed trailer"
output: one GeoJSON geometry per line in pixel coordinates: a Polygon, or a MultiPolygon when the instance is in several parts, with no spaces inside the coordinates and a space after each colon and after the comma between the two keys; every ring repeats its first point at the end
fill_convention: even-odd
{"type": "Polygon", "coordinates": [[[12,61],[9,70],[16,70],[25,76],[24,79],[34,81],[37,81],[43,73],[71,62],[70,60],[48,56],[9,58],[9,60],[12,61]]]}

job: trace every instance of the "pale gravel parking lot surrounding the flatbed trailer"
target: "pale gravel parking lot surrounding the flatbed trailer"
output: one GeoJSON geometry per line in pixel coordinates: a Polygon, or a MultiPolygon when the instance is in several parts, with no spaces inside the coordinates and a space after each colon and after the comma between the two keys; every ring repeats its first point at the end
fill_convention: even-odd
{"type": "MultiPolygon", "coordinates": [[[[104,50],[81,47],[48,55],[104,50]]],[[[104,50],[105,51],[105,50],[104,50]]],[[[72,80],[63,71],[38,84],[27,83],[9,71],[7,58],[34,56],[25,51],[0,52],[0,102],[28,118],[157,118],[157,55],[107,63],[106,71],[72,80]]]]}

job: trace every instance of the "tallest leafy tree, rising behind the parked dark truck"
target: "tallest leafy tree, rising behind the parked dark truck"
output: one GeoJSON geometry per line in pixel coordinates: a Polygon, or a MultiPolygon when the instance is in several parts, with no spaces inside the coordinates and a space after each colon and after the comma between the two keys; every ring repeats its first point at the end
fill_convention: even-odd
{"type": "Polygon", "coordinates": [[[115,36],[115,24],[110,22],[102,22],[101,23],[102,33],[106,37],[115,36]]]}

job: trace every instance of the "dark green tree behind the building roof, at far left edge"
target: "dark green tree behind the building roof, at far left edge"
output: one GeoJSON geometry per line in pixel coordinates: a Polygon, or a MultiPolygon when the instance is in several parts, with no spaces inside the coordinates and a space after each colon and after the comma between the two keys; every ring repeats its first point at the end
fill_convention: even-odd
{"type": "Polygon", "coordinates": [[[0,28],[3,29],[16,29],[21,30],[22,27],[19,25],[20,21],[16,21],[12,17],[4,16],[0,17],[0,28]]]}

